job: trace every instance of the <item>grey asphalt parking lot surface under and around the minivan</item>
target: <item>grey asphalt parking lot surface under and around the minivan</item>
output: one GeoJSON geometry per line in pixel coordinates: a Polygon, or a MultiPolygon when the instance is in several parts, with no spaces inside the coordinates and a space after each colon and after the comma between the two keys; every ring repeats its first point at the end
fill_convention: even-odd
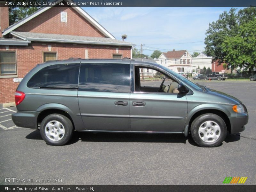
{"type": "Polygon", "coordinates": [[[242,185],[255,185],[256,82],[204,84],[242,100],[249,112],[245,131],[216,148],[178,134],[78,132],[65,146],[49,146],[39,131],[15,127],[9,115],[15,107],[0,108],[0,185],[222,185],[226,177],[248,177],[242,185]]]}

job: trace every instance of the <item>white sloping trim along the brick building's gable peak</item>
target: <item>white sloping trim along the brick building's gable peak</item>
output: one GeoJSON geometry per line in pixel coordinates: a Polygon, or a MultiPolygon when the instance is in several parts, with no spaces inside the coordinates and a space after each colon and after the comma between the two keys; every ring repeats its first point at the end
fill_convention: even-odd
{"type": "MultiPolygon", "coordinates": [[[[74,3],[74,1],[72,0],[51,0],[49,2],[51,3],[55,3],[55,2],[70,2],[70,3],[74,3]]],[[[29,20],[35,18],[37,15],[40,15],[41,13],[47,11],[48,9],[52,8],[54,5],[49,5],[47,7],[43,7],[41,9],[39,9],[38,11],[32,13],[31,15],[29,15],[28,17],[20,20],[17,23],[14,23],[13,25],[9,26],[8,28],[4,29],[2,31],[3,36],[7,35],[8,33],[12,32],[14,29],[20,27],[21,25],[23,25],[24,23],[28,22],[29,20]]],[[[74,10],[76,10],[82,17],[84,17],[84,19],[88,20],[95,28],[97,28],[102,34],[104,34],[106,37],[109,37],[111,39],[116,39],[113,35],[111,35],[107,29],[105,29],[104,27],[102,27],[100,25],[100,23],[98,23],[96,20],[94,20],[87,12],[85,12],[81,7],[74,7],[74,6],[70,6],[72,7],[74,10]]]]}

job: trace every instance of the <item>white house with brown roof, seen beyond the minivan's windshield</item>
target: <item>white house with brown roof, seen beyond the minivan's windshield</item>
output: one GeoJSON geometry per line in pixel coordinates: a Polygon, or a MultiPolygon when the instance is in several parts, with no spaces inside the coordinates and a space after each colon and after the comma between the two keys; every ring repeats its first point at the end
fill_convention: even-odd
{"type": "Polygon", "coordinates": [[[156,62],[177,73],[192,73],[193,69],[195,69],[195,66],[192,66],[192,56],[187,52],[187,50],[175,51],[175,49],[173,49],[166,53],[162,52],[156,62]]]}

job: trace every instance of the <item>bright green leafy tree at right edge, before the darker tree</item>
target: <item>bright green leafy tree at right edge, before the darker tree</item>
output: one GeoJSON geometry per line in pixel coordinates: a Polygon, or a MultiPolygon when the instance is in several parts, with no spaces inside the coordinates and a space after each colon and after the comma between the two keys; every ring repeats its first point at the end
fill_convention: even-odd
{"type": "Polygon", "coordinates": [[[233,67],[247,68],[252,72],[256,67],[256,18],[244,22],[237,35],[225,37],[221,44],[224,59],[233,67]]]}

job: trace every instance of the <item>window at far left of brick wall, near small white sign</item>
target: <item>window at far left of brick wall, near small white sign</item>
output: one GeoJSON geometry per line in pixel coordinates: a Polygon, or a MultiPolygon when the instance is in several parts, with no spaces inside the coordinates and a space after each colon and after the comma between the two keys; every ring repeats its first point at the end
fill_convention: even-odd
{"type": "Polygon", "coordinates": [[[0,75],[16,75],[16,52],[3,51],[0,52],[0,75]]]}

